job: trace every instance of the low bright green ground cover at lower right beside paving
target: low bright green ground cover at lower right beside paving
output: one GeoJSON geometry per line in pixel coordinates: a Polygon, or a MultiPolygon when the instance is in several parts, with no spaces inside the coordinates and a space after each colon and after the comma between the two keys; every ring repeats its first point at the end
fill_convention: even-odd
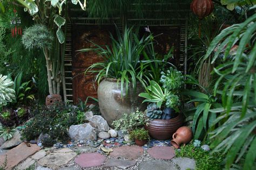
{"type": "Polygon", "coordinates": [[[198,170],[219,170],[222,169],[221,162],[224,159],[223,154],[204,151],[201,147],[195,147],[193,141],[186,146],[181,146],[180,151],[176,150],[176,157],[192,158],[196,161],[198,170]]]}

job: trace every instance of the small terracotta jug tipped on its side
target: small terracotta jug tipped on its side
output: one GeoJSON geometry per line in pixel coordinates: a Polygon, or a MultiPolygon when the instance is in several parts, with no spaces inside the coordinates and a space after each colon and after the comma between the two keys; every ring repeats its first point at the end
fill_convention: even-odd
{"type": "Polygon", "coordinates": [[[185,146],[187,143],[189,143],[192,137],[192,130],[187,126],[182,126],[175,133],[173,133],[171,144],[172,146],[179,148],[181,144],[185,146]]]}

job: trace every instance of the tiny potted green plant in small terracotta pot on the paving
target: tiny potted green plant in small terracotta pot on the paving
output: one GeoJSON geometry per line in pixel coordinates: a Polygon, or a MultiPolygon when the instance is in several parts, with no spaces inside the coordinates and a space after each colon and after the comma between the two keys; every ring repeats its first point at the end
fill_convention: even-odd
{"type": "Polygon", "coordinates": [[[131,131],[130,139],[134,139],[135,144],[138,146],[143,146],[149,141],[149,131],[145,129],[136,129],[131,131]]]}

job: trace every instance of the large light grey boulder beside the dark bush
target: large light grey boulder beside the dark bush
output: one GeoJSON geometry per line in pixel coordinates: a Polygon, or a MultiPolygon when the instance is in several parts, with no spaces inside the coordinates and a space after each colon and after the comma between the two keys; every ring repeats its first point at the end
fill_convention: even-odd
{"type": "Polygon", "coordinates": [[[69,128],[69,137],[73,140],[96,140],[97,129],[89,123],[72,125],[69,128]]]}

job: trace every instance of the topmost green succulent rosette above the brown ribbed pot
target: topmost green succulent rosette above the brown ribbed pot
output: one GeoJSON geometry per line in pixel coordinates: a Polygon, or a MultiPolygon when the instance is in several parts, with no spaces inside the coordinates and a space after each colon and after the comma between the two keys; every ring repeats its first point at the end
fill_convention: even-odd
{"type": "Polygon", "coordinates": [[[184,83],[184,77],[180,71],[172,67],[165,72],[161,72],[160,82],[163,83],[163,88],[167,90],[178,90],[184,83]]]}

